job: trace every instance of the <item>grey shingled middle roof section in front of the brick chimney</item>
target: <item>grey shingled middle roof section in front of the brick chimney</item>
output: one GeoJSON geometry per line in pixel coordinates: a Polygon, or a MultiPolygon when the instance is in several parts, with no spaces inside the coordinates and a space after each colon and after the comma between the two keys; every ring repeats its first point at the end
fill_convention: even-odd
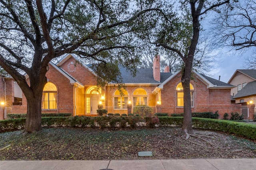
{"type": "Polygon", "coordinates": [[[154,80],[152,68],[137,68],[136,76],[132,76],[132,72],[123,66],[119,66],[124,84],[155,84],[159,85],[172,75],[170,72],[160,73],[160,82],[154,80]]]}

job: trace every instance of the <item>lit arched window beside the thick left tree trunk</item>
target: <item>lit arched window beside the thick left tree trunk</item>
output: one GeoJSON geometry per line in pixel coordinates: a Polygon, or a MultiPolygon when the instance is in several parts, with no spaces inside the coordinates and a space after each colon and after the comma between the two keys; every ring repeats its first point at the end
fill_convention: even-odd
{"type": "Polygon", "coordinates": [[[48,82],[44,86],[42,96],[42,109],[57,109],[57,88],[56,86],[48,82]]]}

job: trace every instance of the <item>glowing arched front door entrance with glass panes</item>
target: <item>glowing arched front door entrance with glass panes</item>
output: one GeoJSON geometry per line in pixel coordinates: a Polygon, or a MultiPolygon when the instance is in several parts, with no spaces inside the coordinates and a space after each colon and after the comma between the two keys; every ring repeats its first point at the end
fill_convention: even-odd
{"type": "Polygon", "coordinates": [[[100,101],[101,89],[97,86],[91,86],[86,91],[86,114],[97,114],[98,104],[100,101]]]}

